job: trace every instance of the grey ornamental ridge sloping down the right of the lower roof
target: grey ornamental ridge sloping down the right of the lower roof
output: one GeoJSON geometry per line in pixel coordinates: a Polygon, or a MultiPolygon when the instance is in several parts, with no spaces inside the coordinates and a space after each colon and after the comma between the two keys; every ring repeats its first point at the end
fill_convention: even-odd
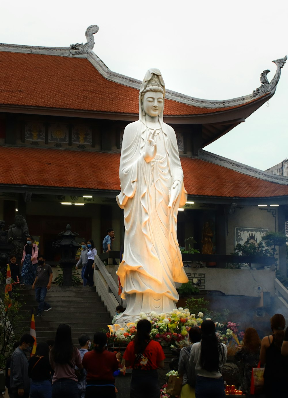
{"type": "MultiPolygon", "coordinates": [[[[197,158],[197,157],[196,157],[197,158]]],[[[214,153],[208,152],[204,149],[199,150],[198,158],[202,160],[206,160],[207,162],[218,164],[219,166],[223,166],[225,168],[229,168],[236,172],[247,174],[251,177],[256,177],[259,179],[263,179],[265,181],[274,182],[280,185],[288,185],[288,177],[278,176],[276,174],[271,174],[263,170],[256,169],[251,166],[247,166],[247,164],[236,162],[235,160],[231,160],[228,158],[224,158],[223,156],[216,155],[214,153]]]]}

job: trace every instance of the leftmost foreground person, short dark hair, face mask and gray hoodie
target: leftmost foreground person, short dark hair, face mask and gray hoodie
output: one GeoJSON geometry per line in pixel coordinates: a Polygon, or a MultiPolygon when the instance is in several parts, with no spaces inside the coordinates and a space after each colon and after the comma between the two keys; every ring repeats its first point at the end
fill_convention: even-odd
{"type": "Polygon", "coordinates": [[[31,352],[34,338],[31,334],[24,334],[11,356],[10,386],[12,398],[28,398],[30,391],[30,379],[28,376],[28,359],[25,352],[31,352]]]}

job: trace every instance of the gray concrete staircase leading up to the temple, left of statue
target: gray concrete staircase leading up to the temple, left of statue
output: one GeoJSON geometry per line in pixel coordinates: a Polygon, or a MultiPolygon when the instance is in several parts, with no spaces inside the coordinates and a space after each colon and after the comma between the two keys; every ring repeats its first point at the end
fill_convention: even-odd
{"type": "Polygon", "coordinates": [[[29,332],[33,307],[37,341],[54,339],[59,324],[68,323],[72,329],[73,343],[78,346],[78,337],[82,333],[88,334],[92,339],[95,332],[108,330],[107,325],[112,320],[95,287],[52,285],[45,298],[52,310],[42,312],[42,317],[36,316],[38,304],[32,287],[21,287],[20,295],[20,302],[23,304],[20,312],[24,320],[19,327],[29,332]]]}

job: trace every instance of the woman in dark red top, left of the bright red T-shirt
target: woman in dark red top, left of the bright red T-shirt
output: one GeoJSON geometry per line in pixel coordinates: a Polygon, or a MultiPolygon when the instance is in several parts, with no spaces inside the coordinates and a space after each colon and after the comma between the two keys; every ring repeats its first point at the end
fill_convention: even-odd
{"type": "Polygon", "coordinates": [[[113,372],[118,369],[118,360],[107,351],[106,333],[94,334],[94,349],[86,352],[83,367],[87,371],[85,398],[116,398],[113,372]]]}

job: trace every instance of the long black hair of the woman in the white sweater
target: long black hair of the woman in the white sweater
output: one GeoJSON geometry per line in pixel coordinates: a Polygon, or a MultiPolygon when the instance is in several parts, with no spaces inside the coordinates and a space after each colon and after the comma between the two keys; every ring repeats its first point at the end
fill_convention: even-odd
{"type": "Polygon", "coordinates": [[[215,333],[214,322],[204,320],[201,324],[200,366],[208,372],[217,372],[223,367],[224,348],[215,333]]]}

